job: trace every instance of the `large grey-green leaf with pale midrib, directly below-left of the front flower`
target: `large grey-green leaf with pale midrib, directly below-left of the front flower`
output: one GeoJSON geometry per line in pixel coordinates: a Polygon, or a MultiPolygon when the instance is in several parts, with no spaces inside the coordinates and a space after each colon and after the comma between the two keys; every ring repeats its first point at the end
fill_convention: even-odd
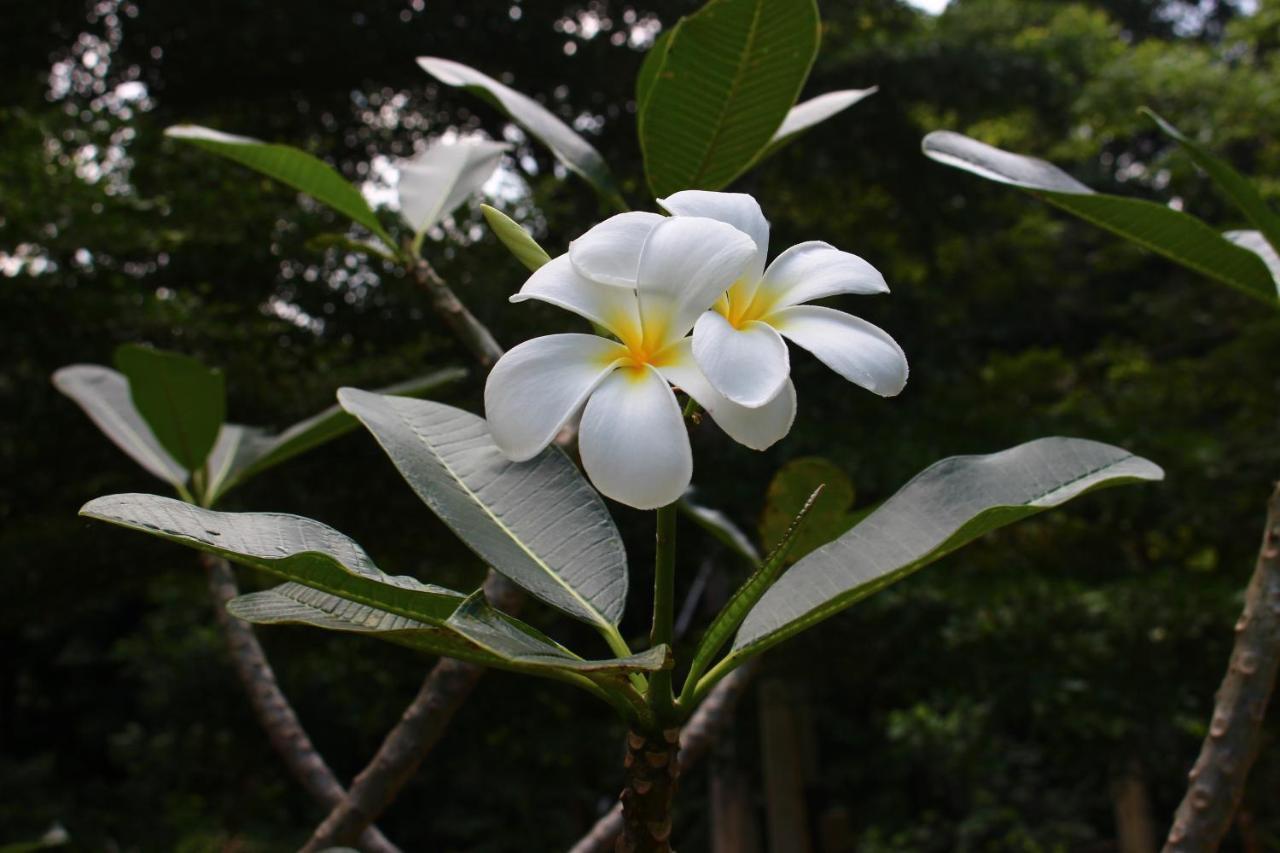
{"type": "Polygon", "coordinates": [[[420,400],[343,388],[343,409],[419,497],[497,571],[547,603],[614,629],[626,551],[599,494],[558,448],[512,462],[484,419],[420,400]]]}

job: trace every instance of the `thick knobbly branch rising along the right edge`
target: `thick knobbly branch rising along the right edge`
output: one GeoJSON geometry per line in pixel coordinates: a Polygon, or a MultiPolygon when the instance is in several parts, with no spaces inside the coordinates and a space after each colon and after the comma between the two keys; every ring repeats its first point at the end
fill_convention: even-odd
{"type": "Polygon", "coordinates": [[[1216,850],[1231,826],[1244,781],[1258,754],[1262,719],[1280,663],[1280,484],[1267,506],[1267,526],[1244,612],[1235,624],[1235,647],[1213,702],[1208,736],[1192,767],[1165,853],[1216,850]]]}

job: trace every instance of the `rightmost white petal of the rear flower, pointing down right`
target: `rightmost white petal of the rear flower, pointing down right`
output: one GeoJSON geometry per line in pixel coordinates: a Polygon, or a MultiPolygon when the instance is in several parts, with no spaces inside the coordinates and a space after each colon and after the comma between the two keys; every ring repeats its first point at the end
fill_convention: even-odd
{"type": "Polygon", "coordinates": [[[867,320],[835,309],[800,305],[771,314],[764,321],[855,386],[881,397],[892,397],[906,386],[902,347],[867,320]]]}

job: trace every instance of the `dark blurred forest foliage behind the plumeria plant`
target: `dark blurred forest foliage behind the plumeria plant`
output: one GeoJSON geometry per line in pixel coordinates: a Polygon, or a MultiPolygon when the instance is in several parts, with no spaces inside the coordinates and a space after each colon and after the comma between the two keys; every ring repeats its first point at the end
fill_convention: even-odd
{"type": "MultiPolygon", "coordinates": [[[[306,246],[342,228],[333,214],[163,129],[195,122],[291,142],[352,179],[451,127],[503,134],[498,113],[412,61],[435,54],[507,73],[598,127],[593,142],[630,201],[652,209],[630,101],[643,33],[694,8],[0,5],[0,844],[56,821],[74,849],[289,849],[323,816],[250,715],[193,553],[77,517],[91,497],[160,485],[49,374],[148,341],[221,365],[236,420],[285,425],[343,384],[468,365],[392,270],[306,246]]],[[[881,92],[735,188],[762,201],[774,252],[827,240],[884,273],[891,296],[837,304],[897,338],[911,382],[884,401],[796,353],[791,437],[753,453],[703,428],[704,497],[754,530],[788,459],[831,459],[861,507],[942,456],[1044,434],[1121,444],[1167,482],[991,535],[772,652],[767,679],[810,721],[810,816],[851,827],[854,847],[827,849],[1110,850],[1114,780],[1135,772],[1162,833],[1280,473],[1280,318],[938,167],[919,140],[968,132],[1100,190],[1176,197],[1239,227],[1137,109],[1203,133],[1280,196],[1280,5],[1240,15],[1212,1],[957,0],[940,18],[891,0],[822,8],[806,95],[881,92]]],[[[522,145],[509,165],[529,188],[509,211],[553,254],[605,214],[544,150],[522,145]]],[[[426,251],[498,339],[572,328],[563,313],[506,302],[522,269],[480,223],[460,211],[426,251]]],[[[479,411],[480,387],[475,377],[448,400],[479,411]]],[[[393,573],[458,587],[480,576],[365,434],[274,470],[224,508],[320,519],[393,573]]],[[[650,519],[614,510],[631,546],[625,630],[640,637],[650,519]]],[[[704,555],[740,571],[690,530],[682,588],[704,555]]],[[[530,619],[595,648],[545,610],[530,619]]],[[[343,779],[430,665],[375,640],[261,635],[343,779]]],[[[732,743],[763,822],[758,712],[753,695],[732,743]]],[[[620,736],[582,694],[492,675],[380,826],[404,849],[562,849],[617,792],[620,736]]],[[[707,785],[704,770],[685,781],[681,849],[707,847],[707,785]]],[[[1230,849],[1277,849],[1277,786],[1267,749],[1230,849]]]]}

